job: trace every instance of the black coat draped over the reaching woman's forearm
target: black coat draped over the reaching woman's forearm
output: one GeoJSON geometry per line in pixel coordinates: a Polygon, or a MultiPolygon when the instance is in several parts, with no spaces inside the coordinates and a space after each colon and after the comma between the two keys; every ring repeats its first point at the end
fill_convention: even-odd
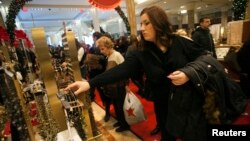
{"type": "MultiPolygon", "coordinates": [[[[220,111],[220,124],[231,124],[246,108],[247,97],[225,68],[210,55],[203,55],[189,63],[183,72],[195,84],[201,94],[214,93],[214,104],[220,111]]],[[[211,102],[211,101],[209,101],[211,102]]]]}

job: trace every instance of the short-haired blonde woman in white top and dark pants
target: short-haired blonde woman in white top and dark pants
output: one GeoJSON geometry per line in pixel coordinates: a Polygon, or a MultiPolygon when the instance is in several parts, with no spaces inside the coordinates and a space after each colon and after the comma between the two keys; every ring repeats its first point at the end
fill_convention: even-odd
{"type": "MultiPolygon", "coordinates": [[[[114,43],[112,40],[106,36],[102,36],[96,41],[96,46],[100,49],[100,52],[107,57],[106,70],[109,70],[122,62],[124,62],[124,57],[118,51],[114,50],[114,43]]],[[[105,111],[106,115],[104,117],[105,121],[109,120],[110,113],[109,108],[111,102],[113,102],[115,114],[117,117],[117,123],[113,126],[118,127],[115,131],[122,132],[129,130],[129,125],[125,120],[123,113],[123,104],[126,96],[126,81],[118,81],[113,84],[104,86],[104,94],[107,96],[105,101],[105,111]]]]}

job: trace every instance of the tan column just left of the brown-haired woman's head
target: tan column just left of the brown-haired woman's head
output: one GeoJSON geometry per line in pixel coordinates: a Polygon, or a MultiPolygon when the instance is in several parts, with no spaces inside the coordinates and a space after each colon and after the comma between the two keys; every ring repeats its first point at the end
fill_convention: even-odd
{"type": "Polygon", "coordinates": [[[137,35],[135,2],[132,0],[126,0],[126,5],[127,5],[128,21],[130,24],[131,34],[137,35]]]}

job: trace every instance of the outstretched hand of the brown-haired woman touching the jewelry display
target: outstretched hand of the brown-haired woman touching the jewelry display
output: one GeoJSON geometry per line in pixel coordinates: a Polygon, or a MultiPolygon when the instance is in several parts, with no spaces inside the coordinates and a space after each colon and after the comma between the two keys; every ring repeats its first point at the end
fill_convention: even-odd
{"type": "Polygon", "coordinates": [[[89,89],[90,89],[90,85],[87,81],[76,81],[68,85],[64,90],[65,91],[73,90],[75,95],[78,95],[82,92],[86,92],[89,89]]]}

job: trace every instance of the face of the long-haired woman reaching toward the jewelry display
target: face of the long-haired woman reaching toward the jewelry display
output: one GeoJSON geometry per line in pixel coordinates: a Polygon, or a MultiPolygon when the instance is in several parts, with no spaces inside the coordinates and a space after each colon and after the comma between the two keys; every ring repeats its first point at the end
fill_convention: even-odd
{"type": "Polygon", "coordinates": [[[147,14],[141,15],[141,33],[146,41],[155,42],[155,29],[147,14]]]}

